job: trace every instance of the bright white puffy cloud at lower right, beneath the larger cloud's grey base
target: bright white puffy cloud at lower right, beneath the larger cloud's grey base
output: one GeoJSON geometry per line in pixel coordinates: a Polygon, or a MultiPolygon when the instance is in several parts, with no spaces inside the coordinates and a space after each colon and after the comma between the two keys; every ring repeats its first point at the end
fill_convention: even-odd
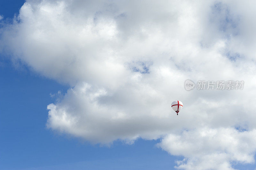
{"type": "Polygon", "coordinates": [[[178,169],[233,169],[232,161],[254,163],[256,130],[202,128],[167,135],[158,144],[173,155],[183,155],[178,169]]]}

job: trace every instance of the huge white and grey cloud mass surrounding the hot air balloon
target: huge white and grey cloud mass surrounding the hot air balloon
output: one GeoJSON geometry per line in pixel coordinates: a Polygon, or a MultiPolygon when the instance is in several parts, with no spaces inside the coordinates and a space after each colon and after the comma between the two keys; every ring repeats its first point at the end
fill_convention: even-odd
{"type": "Polygon", "coordinates": [[[162,138],[185,157],[177,168],[231,169],[255,154],[255,10],[240,3],[28,0],[2,23],[0,50],[70,86],[48,128],[103,144],[162,138]],[[188,92],[186,79],[245,84],[188,92]]]}

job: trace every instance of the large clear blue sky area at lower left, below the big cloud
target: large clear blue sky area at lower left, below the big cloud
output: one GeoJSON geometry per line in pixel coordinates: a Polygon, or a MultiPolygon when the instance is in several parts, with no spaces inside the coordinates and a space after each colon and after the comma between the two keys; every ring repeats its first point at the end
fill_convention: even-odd
{"type": "Polygon", "coordinates": [[[169,169],[174,157],[139,139],[132,145],[91,145],[45,127],[50,93],[68,87],[1,56],[0,169],[169,169]]]}

